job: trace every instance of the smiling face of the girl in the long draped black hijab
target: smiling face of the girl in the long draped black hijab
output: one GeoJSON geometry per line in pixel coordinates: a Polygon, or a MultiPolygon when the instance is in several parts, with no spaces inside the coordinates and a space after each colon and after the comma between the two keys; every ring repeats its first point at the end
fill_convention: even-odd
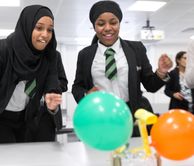
{"type": "Polygon", "coordinates": [[[32,31],[32,45],[35,49],[42,51],[46,48],[52,39],[53,26],[53,20],[48,16],[41,17],[37,21],[32,31]]]}

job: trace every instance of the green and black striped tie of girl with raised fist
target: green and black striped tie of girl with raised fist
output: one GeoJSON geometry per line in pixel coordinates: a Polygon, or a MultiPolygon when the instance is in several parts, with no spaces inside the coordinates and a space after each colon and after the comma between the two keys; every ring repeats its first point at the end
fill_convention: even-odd
{"type": "Polygon", "coordinates": [[[115,51],[112,48],[108,48],[104,53],[106,56],[105,76],[109,80],[114,80],[117,76],[117,66],[114,54],[115,51]]]}

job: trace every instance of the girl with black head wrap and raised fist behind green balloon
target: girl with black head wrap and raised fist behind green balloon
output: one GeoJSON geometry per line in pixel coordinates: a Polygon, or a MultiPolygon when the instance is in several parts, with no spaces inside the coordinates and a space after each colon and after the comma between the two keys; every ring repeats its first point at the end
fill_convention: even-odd
{"type": "Polygon", "coordinates": [[[77,102],[94,91],[113,93],[134,114],[142,107],[141,84],[147,91],[156,92],[165,85],[172,61],[162,55],[153,72],[144,45],[119,37],[122,18],[120,6],[114,1],[98,1],[91,7],[89,19],[96,35],[92,44],[78,54],[72,93],[77,102]]]}

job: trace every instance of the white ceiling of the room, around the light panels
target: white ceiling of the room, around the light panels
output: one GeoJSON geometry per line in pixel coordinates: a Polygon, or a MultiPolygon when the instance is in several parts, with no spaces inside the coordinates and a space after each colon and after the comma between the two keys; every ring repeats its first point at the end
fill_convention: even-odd
{"type": "MultiPolygon", "coordinates": [[[[48,6],[55,16],[57,40],[65,44],[89,43],[94,35],[88,13],[97,0],[21,0],[21,7],[0,8],[0,28],[14,29],[21,10],[30,4],[48,6]]],[[[194,0],[164,0],[167,5],[157,12],[132,12],[127,8],[135,0],[115,0],[123,11],[120,34],[124,39],[139,40],[142,26],[165,31],[160,43],[185,43],[194,34],[194,0]],[[186,32],[183,32],[186,30],[186,32]]]]}

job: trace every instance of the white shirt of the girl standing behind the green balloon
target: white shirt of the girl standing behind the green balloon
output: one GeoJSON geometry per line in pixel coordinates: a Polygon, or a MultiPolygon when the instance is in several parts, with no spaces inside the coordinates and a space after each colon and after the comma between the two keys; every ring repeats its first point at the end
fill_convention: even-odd
{"type": "Polygon", "coordinates": [[[98,48],[92,64],[91,74],[94,86],[99,89],[113,93],[124,101],[129,101],[128,94],[128,63],[126,56],[121,47],[120,39],[111,46],[116,52],[114,57],[117,66],[117,78],[109,80],[105,77],[105,55],[104,52],[108,47],[98,42],[98,48]]]}

